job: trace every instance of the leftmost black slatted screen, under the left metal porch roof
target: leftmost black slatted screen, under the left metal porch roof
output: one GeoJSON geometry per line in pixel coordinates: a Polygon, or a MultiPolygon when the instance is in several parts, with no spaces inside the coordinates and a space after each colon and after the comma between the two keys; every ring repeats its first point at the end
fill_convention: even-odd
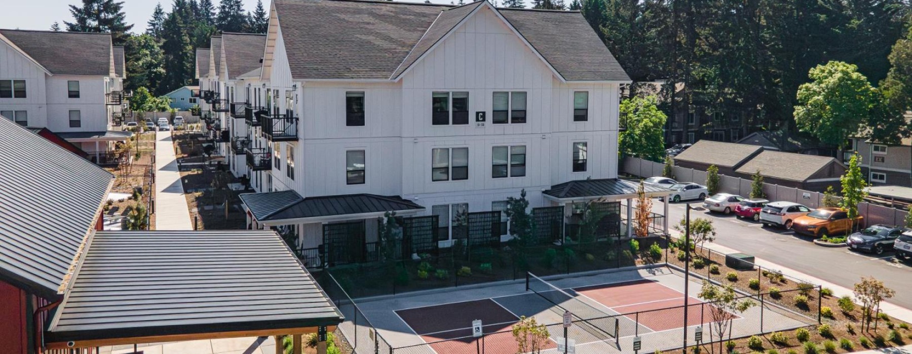
{"type": "Polygon", "coordinates": [[[323,224],[323,259],[327,266],[363,262],[366,248],[364,220],[323,224]]]}

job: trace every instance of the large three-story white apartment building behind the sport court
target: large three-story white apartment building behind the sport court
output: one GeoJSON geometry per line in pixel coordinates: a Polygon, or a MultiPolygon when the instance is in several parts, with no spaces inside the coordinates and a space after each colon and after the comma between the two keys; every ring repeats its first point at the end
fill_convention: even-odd
{"type": "Polygon", "coordinates": [[[500,244],[523,190],[542,242],[594,199],[606,235],[622,232],[620,200],[637,188],[617,179],[630,80],[578,12],[275,0],[262,50],[215,41],[223,66],[262,57],[238,77],[219,69],[222,96],[261,112],[233,122],[251,140],[246,168],[233,164],[258,192],[242,196],[249,227],[283,231],[308,267],[377,258],[389,211],[403,258],[500,244]]]}

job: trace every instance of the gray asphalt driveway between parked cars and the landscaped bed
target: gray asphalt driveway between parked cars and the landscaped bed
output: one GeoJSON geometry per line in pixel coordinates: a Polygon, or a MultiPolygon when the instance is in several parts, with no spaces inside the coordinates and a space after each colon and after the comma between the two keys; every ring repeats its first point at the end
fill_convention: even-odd
{"type": "Polygon", "coordinates": [[[872,255],[853,252],[848,248],[824,248],[814,245],[812,238],[795,235],[791,230],[762,228],[760,223],[740,219],[733,213],[710,213],[702,208],[702,200],[671,203],[668,208],[669,225],[677,224],[684,217],[685,206],[688,204],[699,208],[690,211],[691,219],[704,217],[713,221],[717,231],[715,243],[721,246],[802,271],[845,288],[853,288],[862,276],[874,276],[883,280],[887,287],[896,290],[896,297],[891,302],[912,308],[912,293],[905,291],[912,288],[912,264],[894,258],[892,251],[872,255]]]}

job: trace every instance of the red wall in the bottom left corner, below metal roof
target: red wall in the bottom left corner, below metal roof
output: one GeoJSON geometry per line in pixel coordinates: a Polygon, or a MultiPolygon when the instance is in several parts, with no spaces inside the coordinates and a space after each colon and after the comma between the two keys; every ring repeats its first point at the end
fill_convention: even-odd
{"type": "Polygon", "coordinates": [[[26,353],[26,330],[25,291],[0,281],[0,352],[26,353]]]}

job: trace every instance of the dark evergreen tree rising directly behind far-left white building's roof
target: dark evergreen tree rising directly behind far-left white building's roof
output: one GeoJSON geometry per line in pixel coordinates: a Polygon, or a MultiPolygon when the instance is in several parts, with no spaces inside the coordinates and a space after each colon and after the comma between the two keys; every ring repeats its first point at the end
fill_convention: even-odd
{"type": "Polygon", "coordinates": [[[82,0],[81,6],[69,5],[74,21],[64,24],[69,32],[110,33],[114,46],[123,46],[133,25],[127,25],[122,9],[122,1],[82,0]]]}

